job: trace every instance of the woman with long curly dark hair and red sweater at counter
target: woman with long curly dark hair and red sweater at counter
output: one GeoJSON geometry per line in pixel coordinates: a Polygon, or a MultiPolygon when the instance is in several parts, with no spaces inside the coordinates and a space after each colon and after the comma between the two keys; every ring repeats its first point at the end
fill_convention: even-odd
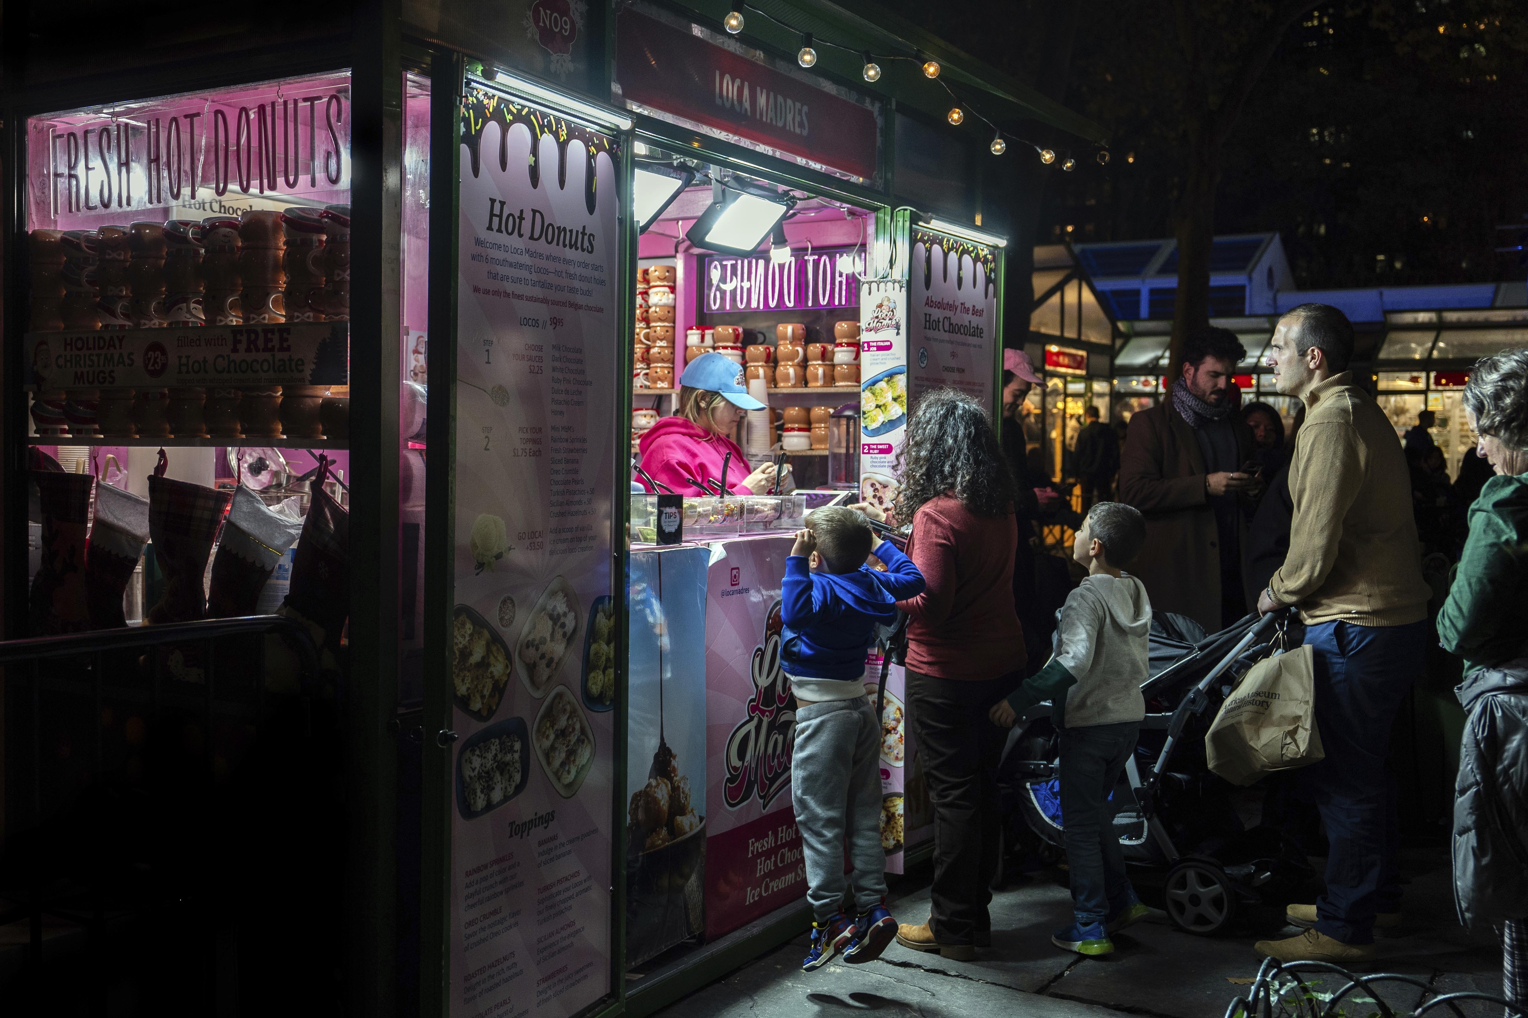
{"type": "Polygon", "coordinates": [[[992,943],[998,870],[998,759],[1005,731],[987,708],[1024,668],[1013,610],[1016,485],[987,412],[938,389],[918,400],[897,458],[894,513],[926,581],[908,612],[908,717],[934,804],[932,914],[903,925],[917,951],[969,960],[992,943]]]}

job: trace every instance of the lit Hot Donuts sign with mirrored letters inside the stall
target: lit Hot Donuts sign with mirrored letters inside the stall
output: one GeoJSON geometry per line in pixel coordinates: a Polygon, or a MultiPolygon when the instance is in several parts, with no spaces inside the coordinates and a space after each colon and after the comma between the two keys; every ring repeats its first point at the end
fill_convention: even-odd
{"type": "Polygon", "coordinates": [[[863,270],[865,258],[853,247],[825,247],[784,263],[769,255],[706,255],[700,264],[711,313],[859,307],[863,270]]]}

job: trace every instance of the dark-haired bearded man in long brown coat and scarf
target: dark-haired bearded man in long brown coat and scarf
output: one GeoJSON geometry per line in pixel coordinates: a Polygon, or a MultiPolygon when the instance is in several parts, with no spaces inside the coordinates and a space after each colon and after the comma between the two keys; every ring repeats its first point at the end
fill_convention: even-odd
{"type": "Polygon", "coordinates": [[[1232,412],[1232,371],[1245,356],[1236,334],[1206,327],[1183,345],[1172,398],[1131,417],[1120,501],[1146,516],[1134,574],[1158,612],[1187,615],[1209,632],[1247,614],[1242,548],[1261,482],[1242,470],[1251,429],[1232,412]]]}

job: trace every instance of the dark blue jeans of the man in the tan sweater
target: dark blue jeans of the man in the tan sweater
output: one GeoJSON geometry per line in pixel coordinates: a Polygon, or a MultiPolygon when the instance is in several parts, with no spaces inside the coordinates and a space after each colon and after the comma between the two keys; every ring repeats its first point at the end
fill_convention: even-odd
{"type": "Polygon", "coordinates": [[[1322,623],[1306,627],[1305,643],[1326,759],[1300,775],[1331,842],[1316,929],[1343,943],[1374,943],[1374,914],[1401,904],[1395,778],[1384,757],[1395,714],[1423,670],[1427,621],[1322,623]]]}

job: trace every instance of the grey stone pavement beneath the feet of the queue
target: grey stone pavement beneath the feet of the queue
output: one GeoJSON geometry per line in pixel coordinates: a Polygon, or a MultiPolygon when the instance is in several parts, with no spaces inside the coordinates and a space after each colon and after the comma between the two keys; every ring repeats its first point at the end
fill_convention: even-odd
{"type": "MultiPolygon", "coordinates": [[[[1371,972],[1410,975],[1435,992],[1500,989],[1500,951],[1488,931],[1465,931],[1453,910],[1445,847],[1407,849],[1401,856],[1410,879],[1404,922],[1380,945],[1371,972]]],[[[898,881],[891,908],[902,922],[927,916],[927,868],[898,881]]],[[[1053,875],[1051,875],[1053,876],[1053,875]]],[[[1137,881],[1141,897],[1154,902],[1148,881],[1137,881]]],[[[833,1018],[874,1010],[895,1018],[975,1018],[1021,1013],[1036,1018],[1089,1018],[1132,1013],[1160,1018],[1219,1018],[1245,986],[1262,958],[1258,939],[1293,936],[1279,910],[1248,916],[1227,936],[1196,937],[1172,926],[1166,913],[1115,937],[1115,952],[1082,958],[1057,951],[1050,934],[1071,913],[1071,896],[1047,875],[999,891],[992,905],[992,948],[975,962],[950,962],[935,954],[892,943],[869,965],[830,963],[802,972],[807,937],[730,972],[711,986],[659,1012],[663,1018],[769,1018],[805,1015],[833,1018]]],[[[1334,992],[1332,977],[1314,981],[1317,992],[1334,992]]],[[[1375,994],[1401,1012],[1412,1010],[1424,991],[1401,983],[1377,984],[1375,994]]],[[[1361,997],[1361,995],[1360,995],[1361,997]]],[[[1374,1007],[1348,1007],[1349,1018],[1365,1018],[1374,1007]]],[[[1442,1013],[1442,1012],[1433,1012],[1442,1013]]],[[[1467,1018],[1494,1018],[1496,1007],[1467,1006],[1467,1018]]]]}

